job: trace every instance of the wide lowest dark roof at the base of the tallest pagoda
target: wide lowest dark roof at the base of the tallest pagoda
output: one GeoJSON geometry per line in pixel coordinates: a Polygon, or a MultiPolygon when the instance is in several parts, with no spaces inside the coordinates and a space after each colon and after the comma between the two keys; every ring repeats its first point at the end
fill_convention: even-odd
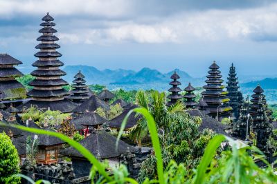
{"type": "Polygon", "coordinates": [[[60,112],[73,112],[73,109],[76,108],[77,104],[69,101],[67,99],[60,101],[34,101],[30,100],[22,105],[19,105],[17,108],[19,111],[22,111],[24,108],[30,108],[31,105],[37,106],[40,110],[46,111],[48,108],[50,110],[60,110],[60,112]]]}

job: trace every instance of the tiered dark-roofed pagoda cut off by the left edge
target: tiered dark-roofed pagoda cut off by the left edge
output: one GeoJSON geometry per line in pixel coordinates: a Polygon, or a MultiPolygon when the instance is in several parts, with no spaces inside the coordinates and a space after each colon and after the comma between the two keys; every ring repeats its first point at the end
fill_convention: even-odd
{"type": "Polygon", "coordinates": [[[15,68],[15,65],[21,64],[21,61],[9,54],[0,54],[0,99],[6,107],[9,107],[10,103],[17,107],[27,98],[26,89],[15,79],[24,76],[15,68]]]}

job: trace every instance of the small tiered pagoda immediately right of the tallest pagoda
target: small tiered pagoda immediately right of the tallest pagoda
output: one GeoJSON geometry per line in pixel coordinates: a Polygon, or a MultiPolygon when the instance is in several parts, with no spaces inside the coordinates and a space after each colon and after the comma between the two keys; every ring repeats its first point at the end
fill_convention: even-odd
{"type": "Polygon", "coordinates": [[[72,85],[74,89],[71,90],[71,94],[67,97],[67,99],[75,103],[82,103],[85,99],[89,99],[89,88],[87,88],[84,75],[80,70],[78,74],[75,74],[74,78],[74,84],[72,85]]]}

